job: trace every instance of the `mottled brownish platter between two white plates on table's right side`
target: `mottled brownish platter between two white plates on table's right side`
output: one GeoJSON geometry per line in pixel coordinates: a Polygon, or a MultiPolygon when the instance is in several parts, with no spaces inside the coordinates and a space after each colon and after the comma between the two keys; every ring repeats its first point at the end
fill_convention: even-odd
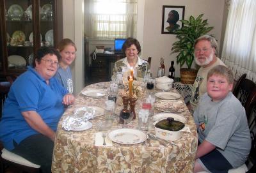
{"type": "Polygon", "coordinates": [[[154,107],[162,112],[177,113],[185,110],[185,105],[180,100],[159,100],[154,107]]]}

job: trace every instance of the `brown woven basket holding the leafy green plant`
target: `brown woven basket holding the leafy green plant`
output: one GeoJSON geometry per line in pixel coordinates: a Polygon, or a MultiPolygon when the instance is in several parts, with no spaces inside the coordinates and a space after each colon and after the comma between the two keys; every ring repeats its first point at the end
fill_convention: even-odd
{"type": "Polygon", "coordinates": [[[180,80],[182,84],[194,84],[197,70],[180,68],[180,80]]]}

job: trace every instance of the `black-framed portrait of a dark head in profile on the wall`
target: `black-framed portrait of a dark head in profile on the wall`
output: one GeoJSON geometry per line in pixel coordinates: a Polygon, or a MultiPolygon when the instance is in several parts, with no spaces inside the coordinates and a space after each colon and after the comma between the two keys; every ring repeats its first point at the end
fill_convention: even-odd
{"type": "Polygon", "coordinates": [[[173,34],[183,27],[180,20],[184,20],[185,6],[163,6],[162,34],[173,34]]]}

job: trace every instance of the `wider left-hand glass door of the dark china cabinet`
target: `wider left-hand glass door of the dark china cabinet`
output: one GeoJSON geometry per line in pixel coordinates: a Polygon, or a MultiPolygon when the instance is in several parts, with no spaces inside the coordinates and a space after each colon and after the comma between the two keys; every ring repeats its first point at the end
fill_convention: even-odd
{"type": "Polygon", "coordinates": [[[24,71],[32,63],[33,8],[28,0],[4,1],[6,10],[7,71],[24,71]]]}

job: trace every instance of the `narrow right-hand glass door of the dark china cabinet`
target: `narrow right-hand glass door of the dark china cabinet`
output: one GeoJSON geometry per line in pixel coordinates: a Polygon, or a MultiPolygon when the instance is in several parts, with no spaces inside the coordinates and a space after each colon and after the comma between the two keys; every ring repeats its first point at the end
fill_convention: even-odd
{"type": "Polygon", "coordinates": [[[40,34],[42,41],[40,46],[54,46],[54,6],[53,0],[40,0],[40,34]]]}

